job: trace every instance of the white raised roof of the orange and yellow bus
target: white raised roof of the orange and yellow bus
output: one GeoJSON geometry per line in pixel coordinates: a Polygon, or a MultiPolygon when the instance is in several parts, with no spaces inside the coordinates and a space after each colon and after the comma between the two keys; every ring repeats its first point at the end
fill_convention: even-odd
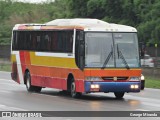
{"type": "Polygon", "coordinates": [[[16,24],[13,30],[62,30],[81,29],[84,31],[137,32],[134,27],[107,23],[98,19],[74,18],[55,19],[45,24],[16,24]]]}

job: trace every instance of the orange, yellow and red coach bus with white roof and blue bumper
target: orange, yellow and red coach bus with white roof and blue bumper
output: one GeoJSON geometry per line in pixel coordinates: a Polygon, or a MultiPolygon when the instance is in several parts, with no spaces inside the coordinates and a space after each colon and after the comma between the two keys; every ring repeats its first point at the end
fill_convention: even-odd
{"type": "Polygon", "coordinates": [[[11,40],[11,77],[28,92],[55,88],[73,98],[140,92],[137,30],[98,19],[56,19],[16,24],[11,40]]]}

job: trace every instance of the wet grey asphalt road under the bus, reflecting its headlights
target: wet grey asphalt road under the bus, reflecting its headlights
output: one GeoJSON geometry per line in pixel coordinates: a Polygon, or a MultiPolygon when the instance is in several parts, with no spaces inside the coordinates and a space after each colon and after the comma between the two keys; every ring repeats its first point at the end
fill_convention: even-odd
{"type": "MultiPolygon", "coordinates": [[[[28,93],[25,85],[11,80],[10,73],[0,72],[0,111],[160,111],[160,90],[145,88],[140,93],[126,93],[122,100],[115,99],[113,93],[87,94],[73,99],[49,88],[42,89],[41,93],[28,93]]],[[[75,118],[65,118],[72,119],[75,118]]]]}

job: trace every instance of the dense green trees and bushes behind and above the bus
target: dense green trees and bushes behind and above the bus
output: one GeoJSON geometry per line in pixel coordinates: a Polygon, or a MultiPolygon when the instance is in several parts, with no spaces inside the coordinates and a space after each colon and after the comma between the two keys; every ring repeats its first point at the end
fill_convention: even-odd
{"type": "Polygon", "coordinates": [[[136,27],[139,41],[160,44],[159,0],[47,0],[41,4],[0,1],[0,44],[10,44],[18,23],[45,23],[57,18],[97,18],[136,27]]]}

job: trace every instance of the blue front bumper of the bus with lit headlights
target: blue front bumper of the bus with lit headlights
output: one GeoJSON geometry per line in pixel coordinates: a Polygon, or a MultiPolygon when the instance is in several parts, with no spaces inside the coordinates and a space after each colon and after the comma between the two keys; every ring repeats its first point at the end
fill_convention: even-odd
{"type": "Polygon", "coordinates": [[[85,82],[85,92],[140,92],[141,82],[85,82]]]}

